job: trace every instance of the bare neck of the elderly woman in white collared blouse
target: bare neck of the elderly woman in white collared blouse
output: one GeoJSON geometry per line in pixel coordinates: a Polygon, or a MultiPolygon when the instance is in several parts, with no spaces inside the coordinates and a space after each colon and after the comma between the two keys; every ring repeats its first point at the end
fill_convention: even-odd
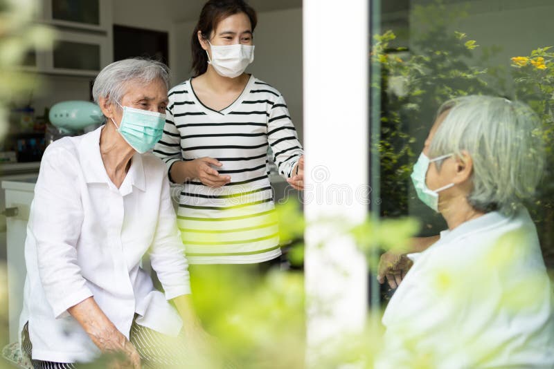
{"type": "Polygon", "coordinates": [[[108,122],[100,132],[100,156],[111,182],[119,187],[129,170],[135,151],[123,140],[115,126],[110,124],[113,123],[108,122]]]}

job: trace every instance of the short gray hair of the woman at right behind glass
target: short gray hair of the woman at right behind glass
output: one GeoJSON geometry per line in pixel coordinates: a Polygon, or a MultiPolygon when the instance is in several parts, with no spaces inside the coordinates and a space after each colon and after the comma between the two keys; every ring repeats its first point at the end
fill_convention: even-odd
{"type": "Polygon", "coordinates": [[[467,200],[472,207],[510,214],[533,196],[545,151],[541,122],[529,106],[472,95],[445,102],[438,115],[445,111],[448,115],[431,141],[429,157],[461,155],[463,150],[470,154],[473,188],[467,200]]]}

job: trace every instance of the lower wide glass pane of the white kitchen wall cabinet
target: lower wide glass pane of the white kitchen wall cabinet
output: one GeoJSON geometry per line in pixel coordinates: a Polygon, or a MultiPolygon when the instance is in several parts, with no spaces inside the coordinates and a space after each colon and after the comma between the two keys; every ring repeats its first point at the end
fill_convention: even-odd
{"type": "Polygon", "coordinates": [[[100,70],[100,45],[60,41],[54,50],[54,68],[100,70]]]}

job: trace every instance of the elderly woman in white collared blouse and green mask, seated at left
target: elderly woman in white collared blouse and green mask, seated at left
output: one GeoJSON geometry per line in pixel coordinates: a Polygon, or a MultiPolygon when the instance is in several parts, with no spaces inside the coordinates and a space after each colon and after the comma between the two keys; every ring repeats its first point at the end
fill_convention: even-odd
{"type": "Polygon", "coordinates": [[[168,69],[146,59],[104,68],[93,97],[107,118],[48,146],[30,209],[21,348],[35,368],[73,368],[123,352],[115,367],[177,360],[202,335],[190,307],[188,263],[161,138],[168,69]],[[149,252],[163,289],[141,267],[149,252]],[[175,309],[168,301],[175,304],[175,309]]]}

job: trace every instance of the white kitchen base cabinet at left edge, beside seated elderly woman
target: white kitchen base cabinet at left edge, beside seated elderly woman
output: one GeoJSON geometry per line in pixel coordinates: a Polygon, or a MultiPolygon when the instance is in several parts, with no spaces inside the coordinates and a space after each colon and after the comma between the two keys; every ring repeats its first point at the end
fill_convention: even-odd
{"type": "Polygon", "coordinates": [[[25,238],[30,204],[35,195],[36,176],[25,180],[3,180],[6,193],[6,258],[8,261],[8,319],[10,342],[19,337],[19,314],[23,307],[25,267],[25,238]]]}

